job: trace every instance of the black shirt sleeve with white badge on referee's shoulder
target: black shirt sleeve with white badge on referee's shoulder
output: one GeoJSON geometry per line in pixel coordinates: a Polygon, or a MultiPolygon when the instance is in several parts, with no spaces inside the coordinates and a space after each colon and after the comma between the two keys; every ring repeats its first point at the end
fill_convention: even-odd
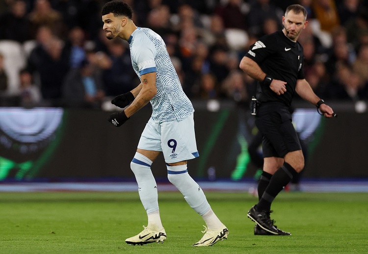
{"type": "Polygon", "coordinates": [[[249,47],[249,51],[245,54],[245,56],[251,58],[258,64],[262,63],[267,56],[274,52],[272,45],[276,43],[275,40],[275,36],[273,38],[273,42],[272,37],[269,35],[261,37],[260,40],[256,41],[249,47]]]}

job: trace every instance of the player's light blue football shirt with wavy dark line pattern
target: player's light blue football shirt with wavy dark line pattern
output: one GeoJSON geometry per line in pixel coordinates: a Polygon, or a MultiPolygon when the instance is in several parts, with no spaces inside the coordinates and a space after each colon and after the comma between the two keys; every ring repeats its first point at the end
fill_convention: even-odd
{"type": "Polygon", "coordinates": [[[167,53],[166,45],[150,28],[137,28],[128,40],[131,64],[139,79],[156,72],[157,94],[151,100],[152,119],[157,122],[181,121],[194,112],[167,53]]]}

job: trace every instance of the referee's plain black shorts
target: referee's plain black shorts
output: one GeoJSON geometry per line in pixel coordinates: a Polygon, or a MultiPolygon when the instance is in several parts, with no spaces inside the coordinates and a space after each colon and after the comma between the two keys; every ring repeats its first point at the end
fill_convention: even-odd
{"type": "Polygon", "coordinates": [[[263,134],[263,157],[280,157],[301,150],[300,141],[291,123],[289,108],[280,102],[261,103],[256,125],[263,134]]]}

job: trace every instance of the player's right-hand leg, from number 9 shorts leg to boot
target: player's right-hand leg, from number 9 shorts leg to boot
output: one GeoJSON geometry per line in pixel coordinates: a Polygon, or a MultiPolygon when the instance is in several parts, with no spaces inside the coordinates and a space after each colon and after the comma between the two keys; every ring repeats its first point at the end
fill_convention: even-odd
{"type": "Polygon", "coordinates": [[[198,157],[193,115],[181,122],[161,124],[162,151],[167,164],[169,181],[184,195],[185,201],[206,223],[206,234],[193,246],[210,246],[226,239],[228,229],[217,218],[202,188],[189,175],[186,160],[198,157]]]}

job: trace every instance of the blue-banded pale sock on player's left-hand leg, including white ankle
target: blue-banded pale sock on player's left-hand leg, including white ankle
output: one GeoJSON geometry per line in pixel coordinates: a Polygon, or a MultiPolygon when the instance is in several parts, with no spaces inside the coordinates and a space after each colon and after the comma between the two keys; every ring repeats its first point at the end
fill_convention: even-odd
{"type": "Polygon", "coordinates": [[[148,227],[159,230],[162,228],[158,211],[158,193],[155,177],[151,171],[152,161],[136,152],[131,161],[131,171],[138,184],[139,198],[147,211],[148,227]]]}

